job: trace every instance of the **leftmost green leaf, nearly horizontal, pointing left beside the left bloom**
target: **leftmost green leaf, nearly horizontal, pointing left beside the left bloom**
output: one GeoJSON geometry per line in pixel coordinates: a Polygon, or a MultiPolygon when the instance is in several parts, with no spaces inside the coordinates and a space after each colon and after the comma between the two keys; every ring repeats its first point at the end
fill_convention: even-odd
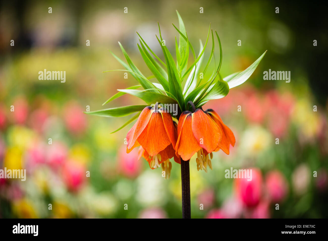
{"type": "Polygon", "coordinates": [[[103,110],[95,110],[95,111],[86,111],[83,112],[88,115],[97,115],[97,116],[104,116],[104,117],[122,117],[130,115],[134,112],[143,110],[146,105],[136,105],[136,106],[121,106],[121,107],[114,107],[109,109],[103,110]]]}

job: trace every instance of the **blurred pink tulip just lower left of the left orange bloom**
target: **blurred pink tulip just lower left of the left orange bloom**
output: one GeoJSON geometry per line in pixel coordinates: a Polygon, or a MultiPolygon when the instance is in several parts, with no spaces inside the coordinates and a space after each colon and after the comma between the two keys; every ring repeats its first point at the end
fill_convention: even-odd
{"type": "Polygon", "coordinates": [[[141,160],[138,158],[138,151],[133,149],[130,153],[126,153],[126,146],[122,146],[117,156],[118,170],[123,175],[134,178],[142,168],[141,160]]]}

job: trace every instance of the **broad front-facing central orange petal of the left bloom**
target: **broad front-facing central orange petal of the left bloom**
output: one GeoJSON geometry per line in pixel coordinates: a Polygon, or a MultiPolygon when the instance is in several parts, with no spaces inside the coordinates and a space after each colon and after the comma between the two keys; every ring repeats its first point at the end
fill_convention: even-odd
{"type": "Polygon", "coordinates": [[[146,128],[137,140],[151,156],[158,154],[171,144],[160,112],[154,111],[152,113],[146,128]]]}

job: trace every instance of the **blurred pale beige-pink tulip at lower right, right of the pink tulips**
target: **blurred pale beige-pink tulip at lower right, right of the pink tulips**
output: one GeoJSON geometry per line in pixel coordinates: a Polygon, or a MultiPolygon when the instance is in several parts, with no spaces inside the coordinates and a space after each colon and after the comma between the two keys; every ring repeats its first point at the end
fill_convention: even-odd
{"type": "Polygon", "coordinates": [[[299,165],[292,174],[293,190],[296,194],[304,194],[310,184],[310,169],[307,164],[299,165]]]}

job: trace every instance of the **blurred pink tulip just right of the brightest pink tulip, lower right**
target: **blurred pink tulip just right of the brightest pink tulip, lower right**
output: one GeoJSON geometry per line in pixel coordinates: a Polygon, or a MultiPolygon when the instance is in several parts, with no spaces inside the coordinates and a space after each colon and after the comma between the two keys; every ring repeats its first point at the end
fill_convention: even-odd
{"type": "Polygon", "coordinates": [[[283,200],[288,191],[287,180],[280,171],[270,171],[265,180],[266,191],[273,202],[283,200]]]}

